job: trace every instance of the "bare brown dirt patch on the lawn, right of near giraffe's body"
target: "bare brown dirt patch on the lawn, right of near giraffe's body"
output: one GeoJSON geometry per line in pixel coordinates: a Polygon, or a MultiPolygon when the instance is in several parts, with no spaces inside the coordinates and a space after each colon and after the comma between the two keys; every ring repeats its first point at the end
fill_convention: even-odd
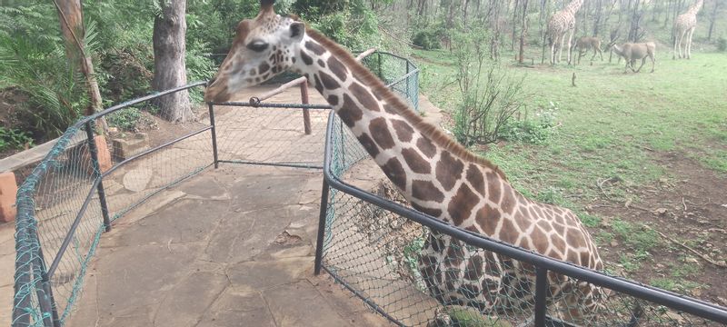
{"type": "MultiPolygon", "coordinates": [[[[702,166],[679,152],[654,153],[658,163],[672,178],[630,190],[635,197],[625,203],[602,199],[592,213],[604,219],[620,217],[630,223],[645,223],[661,233],[661,243],[652,249],[651,262],[627,275],[639,282],[669,278],[673,267],[696,265],[684,277],[701,285],[692,290],[696,298],[727,305],[727,178],[702,166]],[[713,263],[702,258],[702,255],[713,263]],[[714,264],[717,263],[717,264],[714,264]]],[[[624,251],[620,242],[603,244],[602,255],[608,263],[618,263],[624,251]]],[[[611,264],[612,266],[612,264],[611,264]]]]}

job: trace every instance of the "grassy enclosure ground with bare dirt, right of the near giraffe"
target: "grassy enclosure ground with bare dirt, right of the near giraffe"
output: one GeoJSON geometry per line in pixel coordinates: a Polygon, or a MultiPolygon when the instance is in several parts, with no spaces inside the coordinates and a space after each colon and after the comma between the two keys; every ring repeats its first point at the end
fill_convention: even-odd
{"type": "MultiPolygon", "coordinates": [[[[413,57],[423,71],[422,92],[452,113],[459,96],[453,55],[413,57]]],[[[525,195],[578,213],[611,272],[723,298],[724,268],[682,245],[716,262],[727,259],[727,54],[694,51],[692,60],[672,60],[662,46],[655,72],[647,63],[640,74],[623,74],[623,62],[614,56],[609,64],[608,54],[593,65],[583,58],[581,65],[555,67],[517,66],[512,57],[503,54],[503,64],[525,74],[527,111],[553,103],[557,133],[544,144],[473,150],[503,167],[525,195]]]]}

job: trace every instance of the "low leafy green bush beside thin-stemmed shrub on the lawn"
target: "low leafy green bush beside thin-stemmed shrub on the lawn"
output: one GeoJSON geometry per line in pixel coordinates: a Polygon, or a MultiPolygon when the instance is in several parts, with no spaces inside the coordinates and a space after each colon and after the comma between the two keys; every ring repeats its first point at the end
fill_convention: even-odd
{"type": "Polygon", "coordinates": [[[503,140],[517,141],[529,144],[545,144],[557,133],[558,105],[549,103],[548,107],[541,107],[532,116],[527,113],[523,119],[513,119],[503,125],[500,134],[503,140]]]}

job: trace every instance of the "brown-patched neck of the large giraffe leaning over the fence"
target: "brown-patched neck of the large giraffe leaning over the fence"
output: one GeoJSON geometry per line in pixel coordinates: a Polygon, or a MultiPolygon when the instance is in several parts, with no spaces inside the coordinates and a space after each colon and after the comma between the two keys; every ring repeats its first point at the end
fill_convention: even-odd
{"type": "Polygon", "coordinates": [[[491,205],[514,206],[516,193],[509,184],[510,193],[499,191],[507,182],[496,165],[424,123],[339,45],[309,30],[299,49],[294,69],[333,106],[414,208],[463,225],[474,220],[475,206],[487,203],[487,184],[498,190],[491,205]]]}

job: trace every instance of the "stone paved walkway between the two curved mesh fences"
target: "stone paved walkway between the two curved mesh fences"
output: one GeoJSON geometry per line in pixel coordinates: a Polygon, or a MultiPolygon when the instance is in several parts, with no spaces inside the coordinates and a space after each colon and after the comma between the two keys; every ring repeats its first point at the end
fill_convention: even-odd
{"type": "MultiPolygon", "coordinates": [[[[297,103],[297,92],[274,102],[297,103]]],[[[426,119],[437,121],[439,110],[421,103],[426,119]]],[[[221,109],[221,117],[235,116],[221,109]]],[[[389,325],[330,276],[313,274],[322,178],[316,170],[223,164],[155,195],[102,236],[67,325],[389,325]]],[[[0,225],[4,325],[12,308],[13,233],[12,224],[0,225]]]]}

